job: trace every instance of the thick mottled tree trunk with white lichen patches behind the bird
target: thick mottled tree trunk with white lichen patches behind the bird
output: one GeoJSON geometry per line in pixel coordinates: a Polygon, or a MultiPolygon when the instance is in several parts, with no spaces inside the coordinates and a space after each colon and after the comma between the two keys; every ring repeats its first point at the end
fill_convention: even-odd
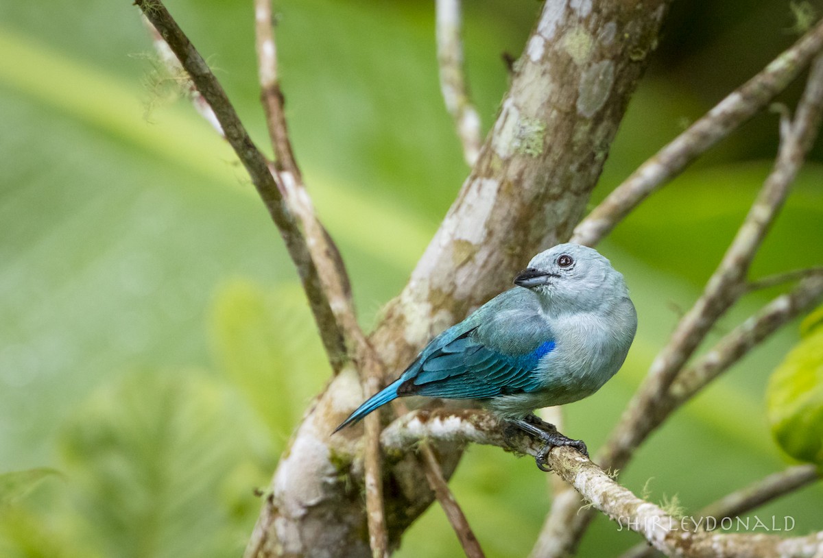
{"type": "MultiPolygon", "coordinates": [[[[552,0],[528,39],[472,174],[401,295],[370,336],[396,376],[429,338],[568,239],[630,94],[657,44],[665,0],[552,0]]],[[[332,430],[366,395],[343,366],[306,413],[272,480],[246,556],[370,556],[360,426],[332,430]]],[[[434,446],[444,476],[462,445],[434,446]]],[[[386,456],[389,544],[434,495],[416,459],[386,456]]]]}

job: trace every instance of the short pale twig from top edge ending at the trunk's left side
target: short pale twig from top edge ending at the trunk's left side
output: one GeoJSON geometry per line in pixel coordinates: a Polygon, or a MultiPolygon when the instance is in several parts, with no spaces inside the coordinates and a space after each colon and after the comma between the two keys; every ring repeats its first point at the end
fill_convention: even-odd
{"type": "Polygon", "coordinates": [[[437,63],[440,91],[463,144],[463,158],[474,165],[480,153],[480,116],[472,105],[463,68],[460,0],[437,0],[437,63]]]}

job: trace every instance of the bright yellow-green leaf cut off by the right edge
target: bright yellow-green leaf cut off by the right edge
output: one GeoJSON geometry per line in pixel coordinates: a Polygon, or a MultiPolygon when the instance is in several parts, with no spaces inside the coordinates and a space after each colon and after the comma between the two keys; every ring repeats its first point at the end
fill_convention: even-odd
{"type": "Polygon", "coordinates": [[[783,451],[800,461],[823,466],[821,310],[804,321],[804,337],[774,370],[766,397],[772,433],[783,451]]]}

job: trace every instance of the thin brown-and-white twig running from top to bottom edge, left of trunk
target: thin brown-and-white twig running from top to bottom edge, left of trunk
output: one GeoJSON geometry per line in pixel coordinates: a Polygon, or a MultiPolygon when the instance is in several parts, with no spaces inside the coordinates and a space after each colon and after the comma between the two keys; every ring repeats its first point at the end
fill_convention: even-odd
{"type": "MultiPolygon", "coordinates": [[[[258,76],[261,100],[266,111],[266,121],[272,150],[275,154],[275,172],[291,195],[292,212],[300,218],[306,235],[312,242],[309,251],[318,263],[323,286],[332,304],[337,323],[348,342],[353,345],[360,380],[365,393],[376,393],[382,387],[383,365],[360,329],[351,300],[346,267],[331,236],[320,223],[303,175],[291,147],[284,98],[277,77],[277,43],[274,40],[271,0],[254,0],[254,30],[258,52],[258,76]]],[[[383,500],[383,467],[380,453],[380,418],[378,413],[365,420],[365,501],[369,542],[374,558],[388,556],[388,532],[383,500]]]]}

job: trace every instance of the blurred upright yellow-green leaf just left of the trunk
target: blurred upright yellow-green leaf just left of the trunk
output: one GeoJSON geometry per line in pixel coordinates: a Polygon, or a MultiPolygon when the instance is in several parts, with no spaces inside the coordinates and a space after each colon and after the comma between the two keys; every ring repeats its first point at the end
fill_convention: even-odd
{"type": "Polygon", "coordinates": [[[212,338],[226,378],[287,439],[331,376],[300,286],[265,291],[253,281],[229,281],[216,296],[212,338]]]}

